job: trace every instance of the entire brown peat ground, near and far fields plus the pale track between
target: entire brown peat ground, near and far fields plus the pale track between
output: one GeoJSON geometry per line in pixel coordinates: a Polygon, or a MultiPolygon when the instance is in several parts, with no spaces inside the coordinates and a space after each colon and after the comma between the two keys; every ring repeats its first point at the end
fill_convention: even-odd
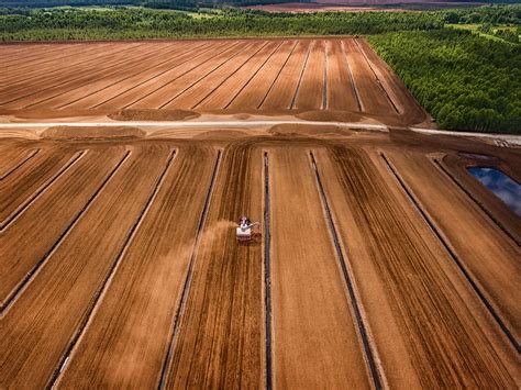
{"type": "Polygon", "coordinates": [[[365,40],[0,67],[0,388],[519,388],[521,219],[466,170],[519,140],[414,130],[365,40]]]}

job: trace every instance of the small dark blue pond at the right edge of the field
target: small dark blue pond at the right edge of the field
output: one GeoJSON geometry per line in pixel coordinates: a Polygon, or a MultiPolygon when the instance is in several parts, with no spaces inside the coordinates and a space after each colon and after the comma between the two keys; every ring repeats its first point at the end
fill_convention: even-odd
{"type": "Polygon", "coordinates": [[[467,170],[521,216],[521,185],[496,168],[472,167],[467,170]]]}

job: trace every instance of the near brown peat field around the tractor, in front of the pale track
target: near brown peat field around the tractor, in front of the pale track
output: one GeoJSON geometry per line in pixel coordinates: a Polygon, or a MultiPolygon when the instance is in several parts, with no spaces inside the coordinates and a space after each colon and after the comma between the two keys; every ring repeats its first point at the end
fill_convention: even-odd
{"type": "Polygon", "coordinates": [[[67,131],[0,137],[0,387],[520,385],[521,221],[461,170],[519,149],[67,131]]]}

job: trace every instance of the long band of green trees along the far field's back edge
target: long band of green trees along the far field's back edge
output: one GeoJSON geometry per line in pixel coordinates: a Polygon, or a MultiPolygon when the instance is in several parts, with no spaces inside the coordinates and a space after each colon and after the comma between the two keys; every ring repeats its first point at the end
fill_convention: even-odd
{"type": "Polygon", "coordinates": [[[442,26],[443,16],[428,12],[270,14],[230,10],[212,18],[192,18],[182,12],[142,8],[103,12],[90,9],[49,9],[32,10],[29,15],[0,16],[0,40],[343,35],[442,26]]]}

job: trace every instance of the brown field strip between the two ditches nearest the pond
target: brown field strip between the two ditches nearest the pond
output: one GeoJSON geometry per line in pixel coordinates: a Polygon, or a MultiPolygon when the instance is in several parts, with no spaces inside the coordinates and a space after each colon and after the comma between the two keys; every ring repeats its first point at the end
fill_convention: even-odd
{"type": "Polygon", "coordinates": [[[426,157],[400,153],[388,154],[388,158],[398,172],[404,170],[403,180],[440,226],[519,345],[521,311],[517,309],[516,291],[521,285],[520,247],[426,157]],[[419,178],[429,180],[420,183],[419,178]],[[483,231],[488,234],[480,239],[467,238],[479,236],[483,231]]]}

